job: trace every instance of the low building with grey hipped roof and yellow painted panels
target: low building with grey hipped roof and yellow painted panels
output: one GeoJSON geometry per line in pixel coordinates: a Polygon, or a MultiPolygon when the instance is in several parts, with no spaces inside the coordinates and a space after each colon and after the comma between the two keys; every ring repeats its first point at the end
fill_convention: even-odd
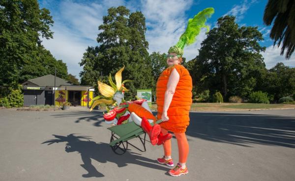
{"type": "Polygon", "coordinates": [[[94,88],[73,83],[53,75],[32,78],[22,83],[24,89],[24,106],[30,105],[72,105],[90,106],[94,88]]]}

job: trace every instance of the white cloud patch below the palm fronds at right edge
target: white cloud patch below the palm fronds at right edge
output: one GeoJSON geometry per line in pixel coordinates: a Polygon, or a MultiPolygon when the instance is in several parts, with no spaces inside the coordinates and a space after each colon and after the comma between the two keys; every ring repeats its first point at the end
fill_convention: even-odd
{"type": "MultiPolygon", "coordinates": [[[[280,55],[281,48],[272,46],[266,48],[266,52],[262,52],[262,56],[264,57],[264,61],[266,63],[266,68],[270,69],[274,67],[278,62],[284,63],[286,66],[295,67],[295,55],[291,56],[289,60],[285,58],[285,55],[280,55]]],[[[286,50],[285,50],[286,52],[286,50]]]]}

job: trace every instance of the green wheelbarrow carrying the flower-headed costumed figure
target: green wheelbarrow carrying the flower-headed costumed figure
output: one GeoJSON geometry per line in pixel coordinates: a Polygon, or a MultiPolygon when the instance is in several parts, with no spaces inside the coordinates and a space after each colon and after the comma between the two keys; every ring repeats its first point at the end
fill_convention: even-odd
{"type": "MultiPolygon", "coordinates": [[[[162,123],[162,120],[159,119],[156,121],[156,124],[162,123]]],[[[150,123],[153,125],[153,123],[150,123]]],[[[129,122],[122,125],[117,125],[108,128],[112,131],[110,146],[115,154],[123,155],[127,149],[128,145],[136,148],[141,152],[145,152],[146,149],[146,135],[147,133],[142,129],[142,127],[136,125],[134,122],[129,122]],[[141,135],[144,134],[143,137],[141,135]],[[143,149],[136,147],[135,145],[128,142],[128,140],[133,138],[139,138],[143,144],[143,149]]]]}

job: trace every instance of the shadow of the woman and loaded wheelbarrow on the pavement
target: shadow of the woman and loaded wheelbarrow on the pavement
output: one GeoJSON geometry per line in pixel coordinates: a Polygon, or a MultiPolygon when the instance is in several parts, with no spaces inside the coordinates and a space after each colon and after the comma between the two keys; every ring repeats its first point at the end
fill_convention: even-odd
{"type": "Polygon", "coordinates": [[[43,142],[42,144],[51,145],[53,143],[65,142],[65,151],[78,152],[84,162],[81,166],[88,172],[82,175],[82,177],[104,177],[104,175],[96,170],[96,168],[91,164],[91,159],[94,159],[100,163],[113,162],[118,165],[118,167],[124,167],[128,164],[137,164],[153,169],[160,169],[167,171],[166,167],[163,167],[156,163],[155,160],[143,157],[137,153],[130,152],[128,150],[124,155],[116,155],[112,152],[112,149],[107,143],[95,143],[90,141],[89,136],[75,136],[74,134],[69,134],[67,136],[53,135],[57,139],[51,139],[43,142]],[[84,139],[84,140],[83,140],[84,139]],[[87,140],[85,140],[87,139],[87,140]]]}

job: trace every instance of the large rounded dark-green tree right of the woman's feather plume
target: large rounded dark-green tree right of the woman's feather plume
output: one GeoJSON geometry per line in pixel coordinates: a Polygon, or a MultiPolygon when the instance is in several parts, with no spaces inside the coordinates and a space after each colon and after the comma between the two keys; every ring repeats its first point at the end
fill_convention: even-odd
{"type": "Polygon", "coordinates": [[[220,91],[226,100],[231,95],[248,95],[265,69],[260,54],[265,47],[259,45],[260,40],[263,37],[257,27],[238,27],[234,16],[219,18],[217,27],[201,43],[199,55],[189,64],[199,93],[220,91]]]}

